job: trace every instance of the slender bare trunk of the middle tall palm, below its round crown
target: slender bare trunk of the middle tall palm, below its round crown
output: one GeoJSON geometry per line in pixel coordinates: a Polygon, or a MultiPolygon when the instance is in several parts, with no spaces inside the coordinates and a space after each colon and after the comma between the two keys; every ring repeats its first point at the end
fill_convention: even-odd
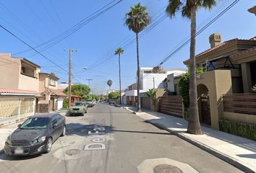
{"type": "Polygon", "coordinates": [[[137,43],[137,112],[140,110],[140,58],[139,58],[139,33],[136,33],[137,43]]]}

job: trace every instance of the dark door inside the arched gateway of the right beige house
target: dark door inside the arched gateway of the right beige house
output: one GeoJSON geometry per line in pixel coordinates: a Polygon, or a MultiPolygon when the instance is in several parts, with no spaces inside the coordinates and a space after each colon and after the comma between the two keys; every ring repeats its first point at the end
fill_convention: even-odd
{"type": "Polygon", "coordinates": [[[210,125],[210,104],[208,96],[201,96],[202,124],[210,125]]]}

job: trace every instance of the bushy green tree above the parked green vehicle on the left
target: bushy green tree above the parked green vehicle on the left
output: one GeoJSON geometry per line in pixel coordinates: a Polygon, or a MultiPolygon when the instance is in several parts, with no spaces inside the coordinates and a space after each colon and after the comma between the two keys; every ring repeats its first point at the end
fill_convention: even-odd
{"type": "MultiPolygon", "coordinates": [[[[68,87],[63,91],[65,94],[68,92],[68,87]]],[[[86,99],[90,93],[90,87],[85,84],[74,84],[71,86],[71,94],[82,97],[86,99]]]]}

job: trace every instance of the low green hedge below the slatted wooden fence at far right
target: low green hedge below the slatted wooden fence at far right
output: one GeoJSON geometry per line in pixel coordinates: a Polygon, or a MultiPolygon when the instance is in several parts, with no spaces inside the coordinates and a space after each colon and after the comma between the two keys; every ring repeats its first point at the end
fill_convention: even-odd
{"type": "Polygon", "coordinates": [[[256,141],[256,125],[236,122],[231,120],[219,120],[220,130],[243,138],[256,141]]]}

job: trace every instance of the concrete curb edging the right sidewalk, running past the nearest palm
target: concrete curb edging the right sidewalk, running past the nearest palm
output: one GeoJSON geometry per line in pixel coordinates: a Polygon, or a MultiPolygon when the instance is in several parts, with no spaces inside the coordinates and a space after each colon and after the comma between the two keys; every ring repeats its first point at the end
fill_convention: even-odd
{"type": "Polygon", "coordinates": [[[229,163],[229,164],[233,165],[234,167],[242,170],[243,172],[255,173],[252,169],[250,169],[249,167],[245,166],[244,164],[239,163],[239,161],[236,161],[236,159],[234,159],[233,157],[228,156],[226,154],[223,154],[220,151],[217,151],[216,149],[211,148],[210,146],[207,146],[207,145],[205,145],[203,143],[195,141],[194,139],[189,138],[188,136],[184,136],[181,133],[177,133],[174,130],[166,128],[164,125],[161,125],[160,123],[153,123],[150,120],[145,120],[145,122],[150,123],[150,124],[155,125],[155,126],[158,126],[160,128],[163,128],[164,130],[167,130],[171,134],[174,134],[174,135],[178,136],[179,138],[182,138],[184,141],[192,143],[194,146],[197,146],[198,148],[201,148],[202,150],[207,151],[210,154],[213,154],[213,156],[216,156],[219,159],[222,159],[223,161],[226,161],[227,163],[229,163]]]}

